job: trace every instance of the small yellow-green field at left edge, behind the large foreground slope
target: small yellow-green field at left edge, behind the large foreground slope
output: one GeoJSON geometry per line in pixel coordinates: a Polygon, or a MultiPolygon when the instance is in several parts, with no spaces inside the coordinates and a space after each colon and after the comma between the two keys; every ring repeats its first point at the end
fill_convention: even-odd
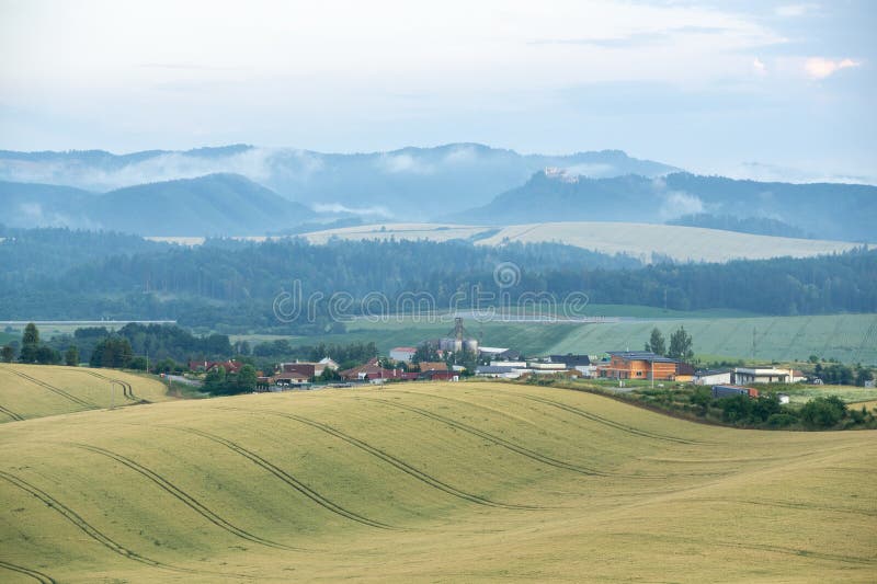
{"type": "Polygon", "coordinates": [[[155,379],[87,367],[0,365],[0,422],[163,401],[155,379]],[[114,383],[115,381],[115,383],[114,383]]]}

